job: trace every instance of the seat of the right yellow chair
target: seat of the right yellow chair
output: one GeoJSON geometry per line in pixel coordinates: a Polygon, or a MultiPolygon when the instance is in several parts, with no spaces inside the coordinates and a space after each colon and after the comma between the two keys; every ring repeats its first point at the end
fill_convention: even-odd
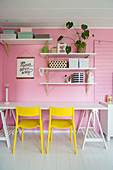
{"type": "Polygon", "coordinates": [[[73,125],[71,119],[52,119],[51,126],[58,129],[66,129],[73,125]]]}

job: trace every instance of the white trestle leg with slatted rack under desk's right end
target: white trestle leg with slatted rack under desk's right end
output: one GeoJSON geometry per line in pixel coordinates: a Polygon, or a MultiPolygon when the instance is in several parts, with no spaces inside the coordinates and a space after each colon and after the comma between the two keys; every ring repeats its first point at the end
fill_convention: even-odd
{"type": "Polygon", "coordinates": [[[81,131],[84,135],[83,142],[82,142],[82,149],[84,149],[86,142],[103,142],[105,148],[107,148],[104,135],[103,135],[103,131],[101,128],[101,124],[98,118],[98,110],[90,110],[86,127],[81,127],[84,116],[85,116],[85,111],[83,112],[82,119],[80,121],[78,131],[77,131],[77,133],[81,131]],[[95,117],[97,119],[100,134],[96,133],[95,131],[95,117]],[[89,126],[91,121],[92,121],[93,127],[89,126]]]}

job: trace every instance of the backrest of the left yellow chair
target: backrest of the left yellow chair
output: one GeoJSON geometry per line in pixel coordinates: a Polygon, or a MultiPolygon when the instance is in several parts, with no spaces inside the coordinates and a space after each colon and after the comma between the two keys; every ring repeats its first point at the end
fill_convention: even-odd
{"type": "Polygon", "coordinates": [[[16,107],[16,114],[18,116],[41,116],[41,107],[16,107]]]}

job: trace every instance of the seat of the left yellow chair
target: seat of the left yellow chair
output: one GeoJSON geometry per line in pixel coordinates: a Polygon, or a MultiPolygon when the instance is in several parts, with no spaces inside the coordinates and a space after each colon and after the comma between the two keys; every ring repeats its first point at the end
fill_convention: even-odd
{"type": "Polygon", "coordinates": [[[25,129],[31,129],[40,126],[40,121],[39,119],[22,119],[18,126],[25,129]]]}

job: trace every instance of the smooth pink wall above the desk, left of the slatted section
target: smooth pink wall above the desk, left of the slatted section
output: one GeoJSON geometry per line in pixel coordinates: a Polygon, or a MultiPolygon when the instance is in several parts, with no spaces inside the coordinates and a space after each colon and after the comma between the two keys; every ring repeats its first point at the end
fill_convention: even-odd
{"type": "MultiPolygon", "coordinates": [[[[60,29],[60,30],[34,30],[34,33],[49,33],[53,38],[53,45],[57,45],[57,38],[59,35],[67,35],[74,37],[74,30],[60,29]]],[[[68,39],[63,42],[72,43],[68,39]]],[[[46,76],[41,77],[38,69],[41,66],[46,66],[46,58],[40,56],[43,45],[11,45],[9,56],[6,55],[3,48],[3,85],[9,83],[9,99],[10,101],[45,101],[45,102],[93,102],[94,101],[94,86],[89,89],[88,95],[85,93],[85,86],[49,86],[49,96],[46,95],[44,85],[40,82],[46,81],[46,76]],[[33,80],[16,79],[17,57],[35,57],[35,76],[33,80]]],[[[89,40],[87,51],[92,52],[92,39],[89,40]]],[[[76,51],[76,49],[73,51],[76,51]]],[[[71,74],[72,72],[68,73],[71,74]]],[[[52,82],[64,82],[64,75],[67,72],[50,72],[49,79],[52,82]]],[[[3,100],[5,100],[5,91],[3,88],[3,100]]]]}

